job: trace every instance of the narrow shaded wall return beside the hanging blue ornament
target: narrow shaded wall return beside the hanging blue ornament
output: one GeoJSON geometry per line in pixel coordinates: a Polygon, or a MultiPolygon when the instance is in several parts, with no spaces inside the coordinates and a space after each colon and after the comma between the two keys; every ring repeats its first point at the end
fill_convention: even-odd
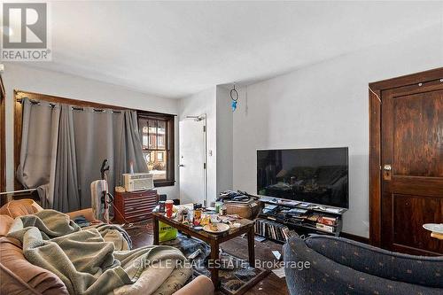
{"type": "Polygon", "coordinates": [[[217,193],[232,190],[232,120],[230,89],[217,86],[217,193]]]}

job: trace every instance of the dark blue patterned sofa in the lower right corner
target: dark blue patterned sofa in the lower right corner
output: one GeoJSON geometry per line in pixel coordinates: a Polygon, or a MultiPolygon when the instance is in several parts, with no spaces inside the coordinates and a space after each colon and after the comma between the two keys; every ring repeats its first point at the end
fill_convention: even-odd
{"type": "Polygon", "coordinates": [[[341,237],[291,237],[284,271],[295,294],[443,294],[443,257],[389,252],[341,237]]]}

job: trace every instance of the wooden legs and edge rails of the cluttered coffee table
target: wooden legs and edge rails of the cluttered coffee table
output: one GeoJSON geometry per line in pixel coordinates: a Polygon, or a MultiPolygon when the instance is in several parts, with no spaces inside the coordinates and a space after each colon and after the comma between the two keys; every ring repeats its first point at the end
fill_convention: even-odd
{"type": "Polygon", "coordinates": [[[208,263],[209,270],[211,272],[211,279],[214,283],[214,287],[217,289],[219,287],[219,269],[215,268],[219,260],[219,245],[223,242],[229,241],[234,237],[238,237],[243,234],[247,234],[248,238],[248,254],[249,254],[249,265],[254,267],[255,265],[255,254],[254,254],[254,221],[247,219],[239,219],[236,222],[240,223],[241,226],[235,229],[229,229],[220,234],[211,234],[205,230],[197,230],[191,228],[189,225],[185,225],[182,222],[175,221],[172,218],[167,218],[165,213],[152,213],[152,224],[154,229],[154,245],[159,245],[159,221],[170,225],[171,227],[178,229],[189,235],[190,237],[196,237],[207,244],[211,245],[211,256],[210,260],[212,263],[208,263]]]}

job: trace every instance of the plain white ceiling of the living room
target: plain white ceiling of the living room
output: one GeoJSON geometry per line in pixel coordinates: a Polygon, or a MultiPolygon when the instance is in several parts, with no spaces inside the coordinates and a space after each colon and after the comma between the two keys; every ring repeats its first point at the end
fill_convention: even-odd
{"type": "Polygon", "coordinates": [[[442,23],[443,2],[54,2],[52,62],[160,97],[255,82],[442,23]]]}

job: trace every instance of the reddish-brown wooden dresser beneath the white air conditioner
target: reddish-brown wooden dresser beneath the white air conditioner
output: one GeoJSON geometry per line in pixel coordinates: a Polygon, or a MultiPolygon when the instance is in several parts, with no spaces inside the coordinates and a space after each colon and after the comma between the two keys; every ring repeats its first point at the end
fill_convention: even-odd
{"type": "Polygon", "coordinates": [[[117,222],[143,221],[152,218],[157,205],[157,190],[115,192],[114,216],[117,222]]]}

